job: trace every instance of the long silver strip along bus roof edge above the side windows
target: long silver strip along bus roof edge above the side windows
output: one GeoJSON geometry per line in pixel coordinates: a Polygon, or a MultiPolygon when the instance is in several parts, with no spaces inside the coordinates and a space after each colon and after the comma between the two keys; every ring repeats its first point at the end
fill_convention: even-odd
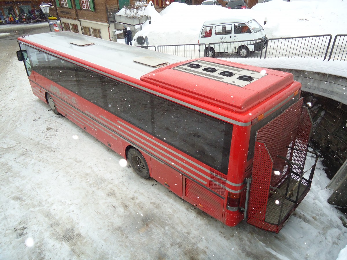
{"type": "Polygon", "coordinates": [[[112,79],[121,81],[121,82],[126,83],[126,84],[128,84],[128,85],[130,85],[130,86],[133,86],[133,87],[142,89],[142,90],[144,90],[145,92],[149,92],[149,93],[152,93],[152,94],[154,94],[154,95],[156,95],[156,96],[163,97],[163,98],[168,99],[168,100],[171,100],[171,101],[173,101],[173,102],[175,102],[175,103],[177,103],[177,104],[181,104],[181,105],[183,105],[183,106],[189,107],[189,108],[191,108],[191,109],[193,109],[193,110],[202,112],[202,113],[204,113],[204,114],[206,114],[206,115],[210,115],[210,116],[212,116],[212,117],[214,117],[214,118],[223,120],[223,121],[225,121],[225,122],[232,123],[232,124],[239,125],[239,126],[244,126],[244,127],[246,127],[246,126],[248,126],[248,125],[251,125],[251,123],[252,123],[251,121],[250,121],[250,122],[246,122],[246,123],[238,122],[238,121],[236,121],[236,120],[233,120],[233,119],[227,118],[227,117],[225,117],[225,116],[222,116],[222,115],[213,113],[213,112],[211,112],[211,111],[202,109],[202,108],[200,108],[200,107],[197,107],[197,106],[194,106],[194,105],[191,105],[191,104],[187,104],[186,102],[180,101],[179,99],[176,99],[176,98],[173,98],[173,97],[169,97],[169,96],[167,96],[167,95],[161,94],[161,93],[156,92],[156,91],[151,90],[151,89],[147,89],[147,88],[145,88],[145,87],[142,87],[142,86],[140,86],[140,85],[137,85],[137,84],[135,84],[135,83],[132,83],[132,82],[130,82],[130,81],[127,81],[127,80],[125,80],[125,79],[118,78],[118,77],[116,77],[116,76],[113,76],[113,75],[111,75],[111,74],[109,74],[109,73],[106,73],[106,72],[103,72],[103,71],[101,71],[101,70],[91,68],[91,67],[89,67],[89,66],[87,66],[87,65],[85,65],[85,64],[83,64],[83,63],[76,62],[76,61],[74,61],[74,60],[68,59],[68,58],[63,57],[63,56],[61,56],[61,55],[58,55],[58,54],[52,53],[52,52],[50,52],[50,51],[44,50],[44,49],[42,49],[42,48],[40,48],[40,47],[33,46],[33,45],[29,44],[29,43],[23,43],[23,44],[24,44],[24,45],[27,45],[27,46],[31,46],[31,47],[33,47],[34,49],[41,50],[41,51],[43,51],[43,52],[45,52],[45,53],[51,54],[51,55],[53,55],[53,56],[55,56],[55,57],[58,57],[58,58],[61,58],[61,59],[63,59],[63,60],[69,61],[69,62],[71,62],[71,63],[74,63],[74,64],[76,64],[76,65],[78,65],[78,66],[80,66],[80,67],[82,67],[82,68],[87,69],[87,70],[91,70],[91,71],[94,71],[94,72],[99,73],[99,74],[101,74],[101,75],[104,75],[104,76],[106,76],[106,77],[108,77],[108,78],[112,78],[112,79]]]}

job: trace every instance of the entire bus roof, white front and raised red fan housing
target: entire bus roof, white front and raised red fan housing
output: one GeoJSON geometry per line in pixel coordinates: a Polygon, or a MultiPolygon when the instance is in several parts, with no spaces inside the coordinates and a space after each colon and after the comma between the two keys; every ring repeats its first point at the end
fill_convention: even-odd
{"type": "MultiPolygon", "coordinates": [[[[199,100],[237,113],[248,111],[294,82],[287,72],[266,69],[265,73],[263,68],[214,58],[187,60],[71,32],[23,36],[18,41],[135,87],[146,85],[151,93],[171,100],[180,94],[195,105],[194,100],[199,100]]],[[[300,84],[295,83],[295,88],[300,84]]],[[[283,95],[288,98],[290,92],[283,95]]],[[[284,100],[283,95],[278,102],[284,100]]]]}

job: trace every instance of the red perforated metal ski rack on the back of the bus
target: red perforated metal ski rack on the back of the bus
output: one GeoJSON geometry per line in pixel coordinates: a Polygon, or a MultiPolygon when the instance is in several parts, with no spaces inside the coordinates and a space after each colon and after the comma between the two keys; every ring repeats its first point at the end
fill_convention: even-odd
{"type": "Polygon", "coordinates": [[[312,121],[303,99],[257,131],[247,223],[278,233],[310,190],[303,177],[312,121]]]}

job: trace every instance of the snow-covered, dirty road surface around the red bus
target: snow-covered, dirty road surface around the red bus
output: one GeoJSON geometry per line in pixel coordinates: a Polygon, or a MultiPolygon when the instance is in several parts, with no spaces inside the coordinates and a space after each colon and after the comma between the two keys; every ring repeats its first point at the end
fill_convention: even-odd
{"type": "Polygon", "coordinates": [[[5,38],[0,259],[336,259],[345,248],[344,217],[327,203],[320,163],[279,234],[244,222],[227,227],[121,167],[119,155],[50,111],[31,92],[15,37],[5,38]]]}

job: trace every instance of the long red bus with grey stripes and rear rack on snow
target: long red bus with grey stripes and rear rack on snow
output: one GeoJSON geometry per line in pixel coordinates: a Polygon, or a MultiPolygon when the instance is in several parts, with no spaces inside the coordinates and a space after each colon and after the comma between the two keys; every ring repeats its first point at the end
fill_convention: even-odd
{"type": "Polygon", "coordinates": [[[35,96],[228,226],[279,232],[311,187],[293,75],[71,32],[18,38],[35,96]]]}

